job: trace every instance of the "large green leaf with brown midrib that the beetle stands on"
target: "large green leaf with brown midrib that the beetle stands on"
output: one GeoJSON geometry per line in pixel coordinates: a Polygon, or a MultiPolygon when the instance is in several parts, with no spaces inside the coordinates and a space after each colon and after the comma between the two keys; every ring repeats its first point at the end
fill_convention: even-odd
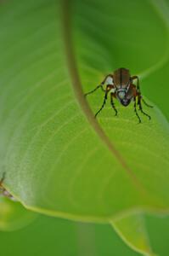
{"type": "Polygon", "coordinates": [[[168,211],[169,126],[155,106],[169,118],[163,3],[1,5],[0,172],[26,207],[102,222],[137,208],[168,211]],[[144,107],[151,121],[142,116],[138,125],[133,106],[117,102],[117,118],[107,103],[93,119],[104,95],[86,101],[83,91],[118,67],[140,75],[144,96],[155,102],[144,107]]]}

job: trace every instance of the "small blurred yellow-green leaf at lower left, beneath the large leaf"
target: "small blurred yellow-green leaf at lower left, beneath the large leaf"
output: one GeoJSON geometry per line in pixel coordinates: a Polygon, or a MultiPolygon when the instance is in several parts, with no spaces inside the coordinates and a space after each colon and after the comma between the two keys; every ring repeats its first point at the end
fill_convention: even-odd
{"type": "Polygon", "coordinates": [[[19,202],[10,201],[7,198],[0,198],[0,230],[19,230],[37,217],[37,214],[28,211],[19,202]]]}

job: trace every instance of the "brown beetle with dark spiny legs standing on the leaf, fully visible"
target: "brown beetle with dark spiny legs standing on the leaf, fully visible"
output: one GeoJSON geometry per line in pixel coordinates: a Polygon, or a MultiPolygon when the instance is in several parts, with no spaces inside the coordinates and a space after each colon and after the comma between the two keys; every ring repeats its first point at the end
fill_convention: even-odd
{"type": "Polygon", "coordinates": [[[149,108],[153,108],[153,106],[150,106],[147,102],[144,101],[139,87],[138,76],[131,76],[127,68],[121,67],[116,69],[114,73],[108,74],[101,84],[99,84],[95,89],[87,92],[85,96],[93,93],[99,88],[104,90],[104,102],[99,111],[95,113],[95,117],[97,117],[99,112],[104,108],[104,105],[107,101],[108,93],[110,92],[110,103],[112,108],[115,110],[115,116],[117,115],[117,110],[115,108],[114,98],[117,99],[124,107],[127,107],[130,102],[134,102],[134,112],[138,117],[138,123],[141,123],[141,119],[138,115],[138,111],[136,108],[137,104],[141,113],[144,113],[144,115],[151,119],[150,115],[144,112],[142,108],[142,102],[144,102],[144,104],[149,108]],[[137,81],[136,85],[133,83],[134,80],[137,81]],[[106,85],[105,90],[104,84],[106,85]]]}

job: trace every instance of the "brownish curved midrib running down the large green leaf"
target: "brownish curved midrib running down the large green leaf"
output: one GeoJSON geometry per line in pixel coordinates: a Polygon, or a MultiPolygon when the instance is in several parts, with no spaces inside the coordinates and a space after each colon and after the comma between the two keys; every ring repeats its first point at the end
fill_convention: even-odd
{"type": "Polygon", "coordinates": [[[65,55],[68,70],[70,72],[70,79],[72,81],[72,87],[76,95],[76,99],[79,102],[82,111],[86,114],[89,124],[93,127],[93,130],[98,134],[99,138],[104,142],[104,144],[109,148],[110,153],[116,158],[116,160],[121,164],[124,170],[127,172],[128,176],[131,178],[134,186],[139,189],[140,193],[145,196],[145,189],[138,181],[138,177],[135,176],[132,169],[127,165],[126,160],[123,158],[121,153],[115,148],[114,143],[110,142],[109,137],[106,136],[103,129],[100,127],[97,119],[94,119],[92,110],[89,108],[87,101],[83,95],[82,83],[79,77],[76,58],[74,54],[74,47],[71,37],[71,18],[70,18],[71,1],[64,0],[61,3],[61,14],[62,14],[62,29],[63,29],[63,41],[65,43],[65,55]]]}

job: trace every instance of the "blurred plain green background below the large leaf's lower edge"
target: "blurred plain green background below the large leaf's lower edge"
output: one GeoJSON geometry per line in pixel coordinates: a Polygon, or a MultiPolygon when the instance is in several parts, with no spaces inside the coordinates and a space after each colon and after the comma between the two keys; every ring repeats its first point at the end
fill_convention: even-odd
{"type": "MultiPolygon", "coordinates": [[[[145,218],[155,253],[169,252],[169,218],[145,218]]],[[[38,216],[22,230],[0,232],[1,255],[136,256],[106,224],[81,224],[38,216]]]]}

